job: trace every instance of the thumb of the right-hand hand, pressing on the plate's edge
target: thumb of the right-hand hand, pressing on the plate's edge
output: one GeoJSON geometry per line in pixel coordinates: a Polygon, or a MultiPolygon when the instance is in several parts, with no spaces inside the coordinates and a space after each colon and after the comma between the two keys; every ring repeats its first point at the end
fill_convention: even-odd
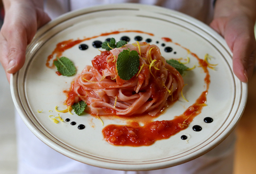
{"type": "Polygon", "coordinates": [[[256,58],[254,22],[246,16],[218,18],[210,25],[226,40],[233,52],[233,71],[242,82],[250,79],[256,58]]]}

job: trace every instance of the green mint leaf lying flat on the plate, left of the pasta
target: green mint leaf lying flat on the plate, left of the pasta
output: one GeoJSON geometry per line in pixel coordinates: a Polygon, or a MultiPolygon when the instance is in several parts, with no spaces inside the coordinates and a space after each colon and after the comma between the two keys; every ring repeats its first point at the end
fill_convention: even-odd
{"type": "Polygon", "coordinates": [[[76,74],[75,65],[67,57],[57,57],[57,60],[54,60],[53,64],[62,75],[71,76],[76,74]]]}

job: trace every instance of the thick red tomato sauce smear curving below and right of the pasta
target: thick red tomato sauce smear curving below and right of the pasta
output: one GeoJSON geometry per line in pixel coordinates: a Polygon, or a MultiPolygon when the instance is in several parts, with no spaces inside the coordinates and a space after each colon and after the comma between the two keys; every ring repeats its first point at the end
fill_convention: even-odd
{"type": "MultiPolygon", "coordinates": [[[[172,42],[170,38],[162,38],[166,42],[172,42]]],[[[175,45],[179,45],[175,43],[175,45]]],[[[182,46],[181,46],[182,47],[182,46]]],[[[189,53],[190,50],[182,47],[189,53]]],[[[199,65],[204,69],[206,90],[198,97],[196,102],[191,105],[183,114],[174,117],[173,120],[148,121],[144,126],[140,126],[138,121],[133,121],[130,125],[108,125],[102,130],[103,137],[106,141],[113,145],[122,146],[148,146],[157,140],[163,140],[178,132],[186,129],[193,119],[201,114],[204,106],[206,106],[206,95],[210,85],[210,74],[207,69],[207,62],[200,59],[195,53],[191,53],[197,60],[199,65]]],[[[159,91],[161,93],[161,91],[159,91]]]]}

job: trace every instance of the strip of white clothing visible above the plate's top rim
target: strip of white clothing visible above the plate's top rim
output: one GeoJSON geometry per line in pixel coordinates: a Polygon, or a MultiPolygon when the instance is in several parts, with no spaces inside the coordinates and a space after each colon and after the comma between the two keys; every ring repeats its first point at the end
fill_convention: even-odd
{"type": "Polygon", "coordinates": [[[84,7],[114,3],[157,5],[190,15],[206,24],[213,18],[214,0],[45,0],[44,9],[51,19],[84,7]]]}

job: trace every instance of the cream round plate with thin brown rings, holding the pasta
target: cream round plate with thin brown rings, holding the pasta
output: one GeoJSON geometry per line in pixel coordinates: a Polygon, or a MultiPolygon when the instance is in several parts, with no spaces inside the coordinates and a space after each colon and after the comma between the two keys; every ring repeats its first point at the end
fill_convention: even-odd
{"type": "MultiPolygon", "coordinates": [[[[213,149],[223,141],[236,126],[242,115],[247,98],[247,85],[241,83],[232,72],[231,52],[225,40],[207,25],[185,14],[156,6],[138,4],[117,4],[97,6],[71,12],[46,24],[40,29],[33,42],[27,48],[26,63],[23,68],[12,76],[11,92],[15,107],[28,128],[45,144],[54,150],[92,166],[117,170],[151,170],[175,166],[195,159],[213,149]],[[207,106],[195,117],[187,129],[168,139],[156,141],[150,146],[115,146],[103,139],[102,129],[109,124],[125,124],[121,119],[101,121],[89,114],[77,116],[68,113],[60,114],[65,120],[70,118],[77,125],[84,124],[85,129],[79,130],[70,122],[53,123],[50,115],[58,116],[55,106],[65,109],[63,102],[66,94],[63,90],[70,88],[74,76],[58,76],[56,69],[45,66],[56,45],[64,40],[98,36],[101,33],[124,30],[140,30],[153,33],[123,32],[100,36],[81,44],[89,46],[87,50],[79,50],[78,45],[67,49],[63,56],[70,58],[77,72],[85,65],[91,65],[94,56],[99,55],[97,48],[92,46],[95,40],[105,41],[114,37],[117,41],[122,36],[129,36],[135,42],[135,36],[141,36],[142,41],[151,39],[150,44],[157,45],[166,59],[190,57],[188,67],[198,65],[195,57],[188,55],[181,46],[190,49],[203,59],[205,54],[213,56],[211,64],[218,64],[216,70],[209,69],[210,88],[207,94],[207,106]],[[171,38],[173,42],[165,42],[161,38],[171,38]],[[158,44],[157,44],[158,41],[158,44]],[[165,44],[165,46],[162,46],[165,44]],[[166,53],[165,47],[173,51],[166,53]],[[174,52],[176,54],[174,54],[174,52]],[[39,113],[37,110],[43,110],[39,113]],[[49,112],[53,110],[53,112],[49,112]],[[204,118],[213,118],[212,123],[205,123],[204,118]],[[200,125],[202,131],[195,132],[192,127],[200,125]],[[189,134],[187,141],[181,136],[189,134]]],[[[171,120],[181,115],[191,106],[205,90],[205,73],[201,67],[187,71],[183,77],[185,84],[182,97],[168,108],[163,115],[155,120],[171,120]]]]}

